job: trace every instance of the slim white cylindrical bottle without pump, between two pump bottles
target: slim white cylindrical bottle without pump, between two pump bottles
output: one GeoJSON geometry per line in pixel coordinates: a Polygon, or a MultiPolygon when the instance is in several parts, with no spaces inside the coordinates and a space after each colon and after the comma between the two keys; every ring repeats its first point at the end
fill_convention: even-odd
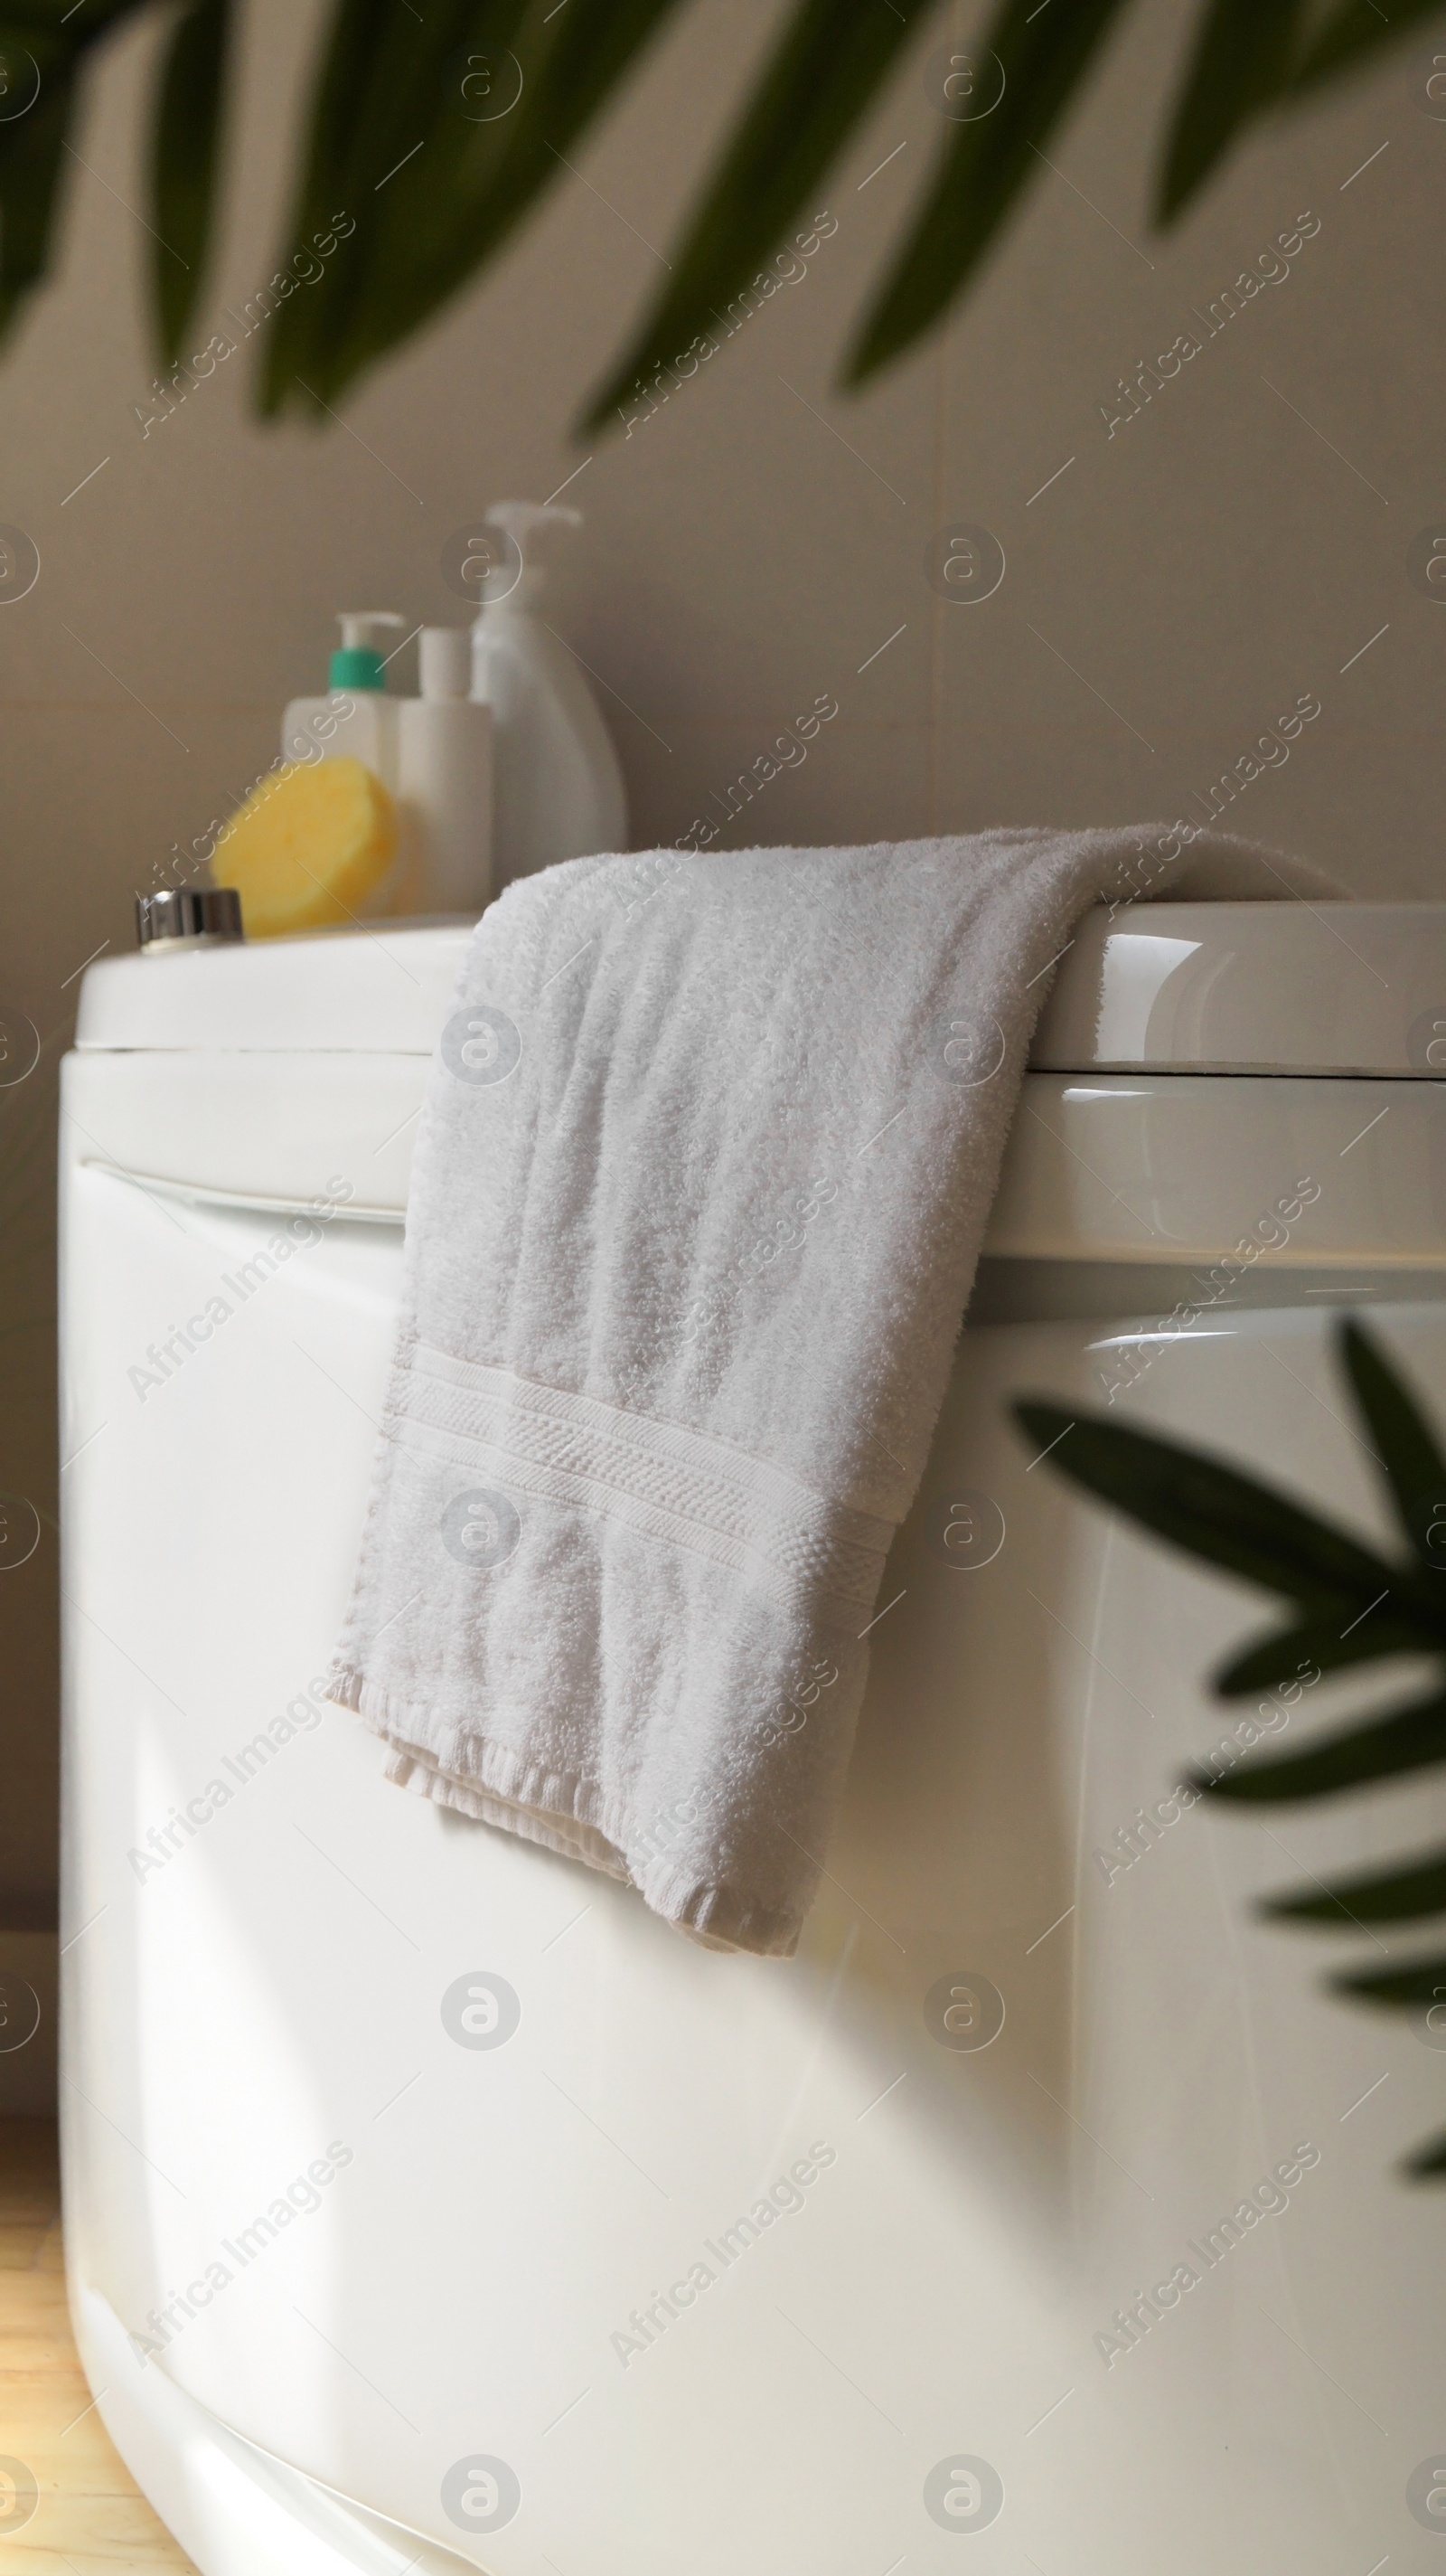
{"type": "Polygon", "coordinates": [[[414,835],[407,904],[479,914],[491,899],[491,708],[473,706],[471,634],[422,626],[419,698],[399,703],[396,791],[414,835]]]}

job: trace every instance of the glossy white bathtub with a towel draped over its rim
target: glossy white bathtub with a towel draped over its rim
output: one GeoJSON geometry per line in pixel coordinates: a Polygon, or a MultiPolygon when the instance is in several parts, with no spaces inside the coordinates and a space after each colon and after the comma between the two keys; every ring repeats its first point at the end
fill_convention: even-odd
{"type": "Polygon", "coordinates": [[[90,971],[62,1149],[69,2285],[105,2424],[206,2576],[1433,2563],[1407,2483],[1441,2442],[1441,2215],[1392,2161],[1443,2120],[1446,2056],[1325,1999],[1338,1945],[1250,1899],[1428,1839],[1441,1798],[1173,1803],[1240,1716],[1202,1674],[1268,1605],[1078,1502],[1006,1412],[1101,1401],[1130,1342],[1130,1419],[1382,1525],[1330,1321],[1377,1309],[1446,1409],[1418,1025],[1446,912],[1366,912],[1389,1005],[1304,907],[1122,914],[1155,943],[1132,984],[1117,951],[1124,1020],[1099,925],[1068,963],[787,1963],[401,1795],[319,1700],[463,935],[389,930],[401,971],[371,940],[90,971]],[[322,1239],[255,1265],[337,1177],[322,1239]],[[1289,1242],[1168,1327],[1304,1177],[1289,1242]],[[988,1561],[957,1556],[965,1494],[988,1561]]]}

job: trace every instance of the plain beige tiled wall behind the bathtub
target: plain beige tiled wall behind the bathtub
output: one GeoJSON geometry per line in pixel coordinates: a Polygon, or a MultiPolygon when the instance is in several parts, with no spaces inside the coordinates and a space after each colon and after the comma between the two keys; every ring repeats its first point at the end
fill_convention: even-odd
{"type": "MultiPolygon", "coordinates": [[[[942,139],[926,36],[821,191],[839,229],[808,281],[633,438],[574,446],[774,15],[764,0],[679,13],[489,283],[322,435],[250,422],[244,350],[142,435],[149,242],[129,209],[154,33],[113,49],[69,173],[62,276],[0,368],[0,518],[41,549],[36,590],[0,613],[0,999],[59,1028],[80,961],[131,938],[131,886],[270,757],[283,698],[322,685],[332,611],[458,616],[437,569],[450,531],[504,492],[548,495],[584,456],[569,497],[589,526],[556,616],[612,693],[638,842],[677,837],[821,690],[839,719],[736,840],[1176,814],[1315,690],[1320,721],[1240,801],[1240,829],[1359,891],[1438,889],[1446,613],[1405,574],[1410,538],[1446,518],[1446,126],[1415,100],[1423,49],[1261,131],[1158,242],[1150,134],[1194,13],[1135,0],[975,299],[847,402],[849,322],[942,139]],[[1112,438],[1114,379],[1307,209],[1320,232],[1289,283],[1112,438]],[[949,520],[1006,549],[980,608],[924,580],[949,520]]],[[[216,309],[273,265],[316,18],[314,0],[247,10],[216,309]]],[[[44,1262],[36,1231],[36,1316],[44,1262]]],[[[44,1345],[44,1319],[0,1345],[0,1484],[54,1510],[44,1345]]],[[[51,1582],[46,1530],[0,1597],[28,1638],[0,1654],[28,1656],[21,1736],[39,1765],[5,1832],[15,1883],[41,1888],[51,1582]]]]}

